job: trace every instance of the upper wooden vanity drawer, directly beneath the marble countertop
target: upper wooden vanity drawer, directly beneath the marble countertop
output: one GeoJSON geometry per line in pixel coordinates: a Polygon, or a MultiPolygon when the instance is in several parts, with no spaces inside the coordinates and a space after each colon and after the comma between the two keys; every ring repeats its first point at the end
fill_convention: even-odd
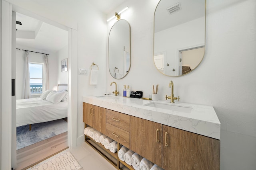
{"type": "Polygon", "coordinates": [[[106,121],[111,125],[130,132],[130,115],[107,109],[106,121]]]}

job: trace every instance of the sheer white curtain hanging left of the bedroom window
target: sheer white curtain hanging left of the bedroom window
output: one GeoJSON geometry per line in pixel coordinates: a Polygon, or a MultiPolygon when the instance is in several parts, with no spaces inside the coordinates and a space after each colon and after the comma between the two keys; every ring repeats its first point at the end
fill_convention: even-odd
{"type": "Polygon", "coordinates": [[[23,72],[23,90],[22,98],[30,98],[30,84],[29,84],[29,65],[28,65],[28,51],[25,51],[24,55],[24,72],[23,72]]]}

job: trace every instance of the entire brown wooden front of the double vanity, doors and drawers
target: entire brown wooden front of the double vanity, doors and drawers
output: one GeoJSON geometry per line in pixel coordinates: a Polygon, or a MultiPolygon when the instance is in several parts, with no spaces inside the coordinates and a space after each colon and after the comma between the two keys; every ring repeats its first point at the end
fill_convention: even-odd
{"type": "MultiPolygon", "coordinates": [[[[220,170],[218,139],[92,104],[83,107],[84,123],[165,170],[220,170]]],[[[117,154],[116,158],[120,161],[117,154]]],[[[114,166],[120,169],[119,164],[114,166]]]]}

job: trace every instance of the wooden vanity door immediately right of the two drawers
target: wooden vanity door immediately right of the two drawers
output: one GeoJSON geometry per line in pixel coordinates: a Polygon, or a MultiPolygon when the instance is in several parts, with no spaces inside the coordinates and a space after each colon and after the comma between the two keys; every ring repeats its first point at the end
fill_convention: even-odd
{"type": "Polygon", "coordinates": [[[131,116],[130,149],[161,166],[162,124],[131,116]]]}

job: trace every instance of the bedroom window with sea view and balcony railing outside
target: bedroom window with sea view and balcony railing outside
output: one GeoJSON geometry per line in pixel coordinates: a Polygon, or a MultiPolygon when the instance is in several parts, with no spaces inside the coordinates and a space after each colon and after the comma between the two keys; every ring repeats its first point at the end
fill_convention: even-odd
{"type": "Polygon", "coordinates": [[[30,76],[30,93],[41,94],[43,87],[43,64],[28,63],[30,76]]]}

